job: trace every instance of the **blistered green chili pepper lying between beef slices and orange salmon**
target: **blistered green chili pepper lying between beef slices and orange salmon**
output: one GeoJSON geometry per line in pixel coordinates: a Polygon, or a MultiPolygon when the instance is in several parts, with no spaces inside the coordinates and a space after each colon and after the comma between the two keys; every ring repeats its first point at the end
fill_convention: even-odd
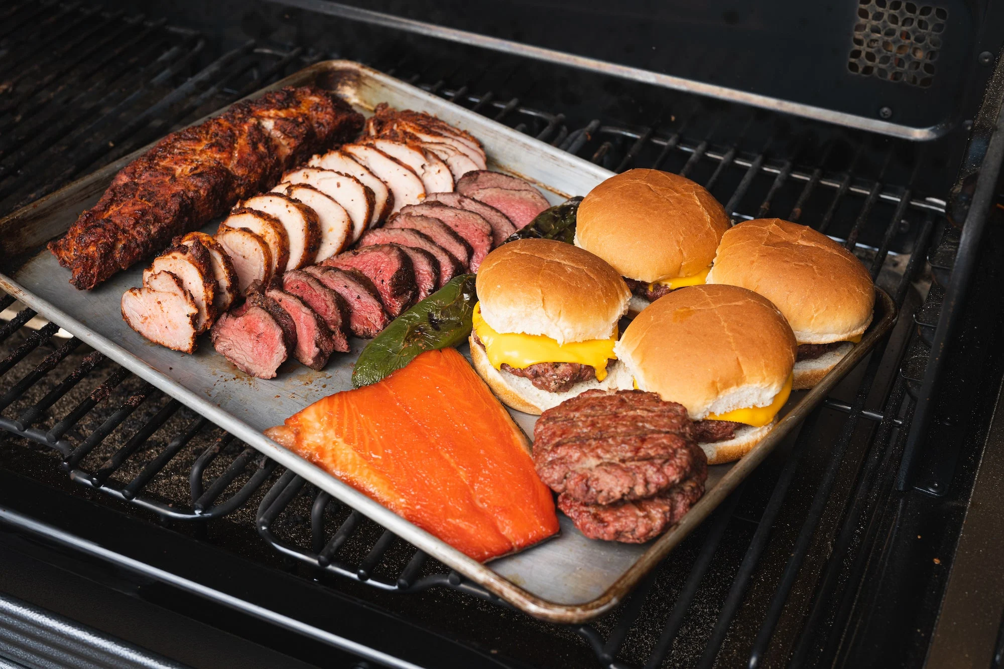
{"type": "Polygon", "coordinates": [[[448,281],[366,344],[352,370],[352,386],[375,383],[423,351],[455,346],[467,339],[475,302],[473,274],[448,281]]]}

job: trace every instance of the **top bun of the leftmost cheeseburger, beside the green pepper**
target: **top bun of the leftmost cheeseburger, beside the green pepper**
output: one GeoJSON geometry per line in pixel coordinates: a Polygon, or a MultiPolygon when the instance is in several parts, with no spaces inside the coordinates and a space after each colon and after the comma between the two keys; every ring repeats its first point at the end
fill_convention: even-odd
{"type": "Polygon", "coordinates": [[[608,339],[631,291],[587,251],[553,240],[517,240],[478,269],[481,316],[496,332],[544,335],[564,344],[608,339]]]}

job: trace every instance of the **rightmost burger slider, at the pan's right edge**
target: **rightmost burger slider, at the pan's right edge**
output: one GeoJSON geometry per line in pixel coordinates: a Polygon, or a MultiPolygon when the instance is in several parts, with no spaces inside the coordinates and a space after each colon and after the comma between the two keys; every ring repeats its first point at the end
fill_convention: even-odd
{"type": "Polygon", "coordinates": [[[780,219],[725,233],[708,283],[748,288],[784,314],[798,341],[796,390],[818,383],[861,340],[875,302],[871,277],[853,254],[780,219]]]}

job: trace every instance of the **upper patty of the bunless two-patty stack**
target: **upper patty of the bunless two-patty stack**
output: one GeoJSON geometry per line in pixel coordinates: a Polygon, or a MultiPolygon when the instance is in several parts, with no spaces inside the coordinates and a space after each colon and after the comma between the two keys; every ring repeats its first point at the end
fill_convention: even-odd
{"type": "Polygon", "coordinates": [[[581,400],[573,397],[544,411],[534,428],[537,473],[555,492],[583,504],[608,505],[663,494],[685,480],[707,477],[707,456],[691,436],[682,405],[638,390],[582,394],[586,397],[581,400]],[[601,423],[616,425],[614,429],[596,429],[600,404],[611,412],[601,423]],[[640,424],[621,411],[625,405],[660,415],[640,424]],[[593,415],[580,420],[578,407],[591,408],[593,415]]]}

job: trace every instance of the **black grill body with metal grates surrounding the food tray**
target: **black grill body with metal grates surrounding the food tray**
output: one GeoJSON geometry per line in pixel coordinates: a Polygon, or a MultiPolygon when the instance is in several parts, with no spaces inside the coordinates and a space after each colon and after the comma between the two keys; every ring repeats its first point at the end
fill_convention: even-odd
{"type": "MultiPolygon", "coordinates": [[[[887,667],[921,666],[967,643],[989,663],[1004,595],[967,621],[962,636],[971,641],[943,632],[939,615],[955,601],[957,546],[955,573],[965,574],[967,538],[990,532],[963,525],[990,471],[981,460],[1004,373],[1001,209],[985,197],[997,193],[994,138],[1004,136],[996,132],[1000,45],[989,63],[978,57],[1004,32],[989,29],[990,7],[932,5],[925,16],[944,11],[947,27],[931,28],[945,37],[928,85],[852,72],[853,17],[876,3],[838,3],[816,17],[782,6],[709,3],[682,13],[670,4],[644,21],[631,6],[561,3],[533,21],[514,3],[402,11],[849,113],[889,106],[904,124],[945,123],[936,138],[498,53],[330,7],[2,10],[0,72],[16,73],[0,97],[2,214],[309,62],[344,57],[610,170],[683,174],[737,221],[810,225],[857,254],[900,307],[889,340],[784,448],[623,605],[574,628],[506,608],[59,336],[57,324],[18,311],[0,323],[0,591],[10,610],[28,617],[41,607],[84,633],[122,640],[123,655],[152,654],[137,656],[148,662],[138,666],[166,657],[194,666],[887,667]],[[544,27],[555,16],[560,32],[544,27]],[[749,39],[708,37],[736,34],[749,39]],[[647,39],[693,57],[645,58],[647,39]],[[629,43],[634,52],[616,48],[629,43]],[[967,230],[977,229],[967,256],[967,230]],[[962,262],[970,276],[959,291],[962,262]],[[952,335],[931,385],[942,313],[952,315],[952,335]],[[924,438],[911,440],[925,396],[924,438]]],[[[911,6],[916,17],[926,7],[911,6]]],[[[908,10],[893,11],[900,21],[908,10]]],[[[862,18],[865,30],[881,21],[889,17],[862,18]]],[[[893,50],[907,41],[896,37],[893,50]]],[[[911,71],[907,62],[904,75],[911,71]]],[[[0,656],[27,657],[28,645],[0,636],[0,656]]]]}

